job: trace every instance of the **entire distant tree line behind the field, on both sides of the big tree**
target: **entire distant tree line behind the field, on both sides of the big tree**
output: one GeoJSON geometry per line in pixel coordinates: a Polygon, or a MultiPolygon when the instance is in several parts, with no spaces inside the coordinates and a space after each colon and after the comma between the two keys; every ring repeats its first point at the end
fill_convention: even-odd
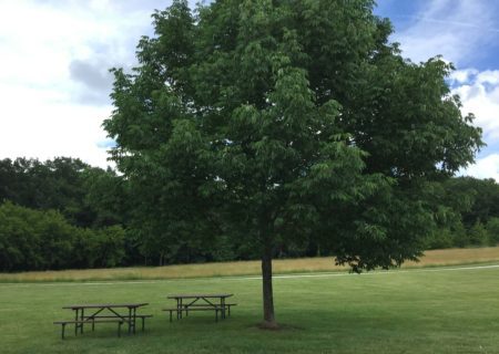
{"type": "MultiPolygon", "coordinates": [[[[144,225],[141,214],[147,210],[130,207],[133,192],[114,170],[80,159],[0,160],[0,270],[258,258],[244,235],[223,228],[213,227],[208,238],[201,233],[196,238],[183,233],[182,220],[162,229],[162,220],[144,225]]],[[[427,202],[435,209],[437,225],[428,235],[428,249],[499,242],[499,185],[493,179],[458,177],[434,183],[427,202]]],[[[281,258],[329,256],[314,239],[282,242],[276,252],[281,258]]]]}

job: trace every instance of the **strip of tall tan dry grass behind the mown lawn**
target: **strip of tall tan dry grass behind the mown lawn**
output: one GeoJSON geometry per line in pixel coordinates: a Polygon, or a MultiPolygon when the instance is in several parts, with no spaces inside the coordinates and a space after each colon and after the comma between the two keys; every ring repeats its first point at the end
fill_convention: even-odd
{"type": "MultiPolygon", "coordinates": [[[[420,262],[407,262],[403,266],[403,268],[479,264],[489,262],[499,262],[499,247],[427,251],[420,262]]],[[[335,266],[332,257],[274,261],[275,274],[334,272],[346,270],[348,270],[347,267],[335,266]]],[[[205,277],[255,275],[259,273],[259,261],[241,261],[166,267],[0,273],[0,282],[189,279],[205,277]]]]}

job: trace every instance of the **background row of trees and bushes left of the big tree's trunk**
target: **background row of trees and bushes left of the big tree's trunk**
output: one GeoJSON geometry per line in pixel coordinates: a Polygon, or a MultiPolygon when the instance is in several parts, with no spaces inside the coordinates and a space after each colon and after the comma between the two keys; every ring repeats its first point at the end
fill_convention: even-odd
{"type": "Polygon", "coordinates": [[[115,171],[80,159],[0,160],[0,270],[24,271],[254,259],[226,235],[153,232],[115,171]]]}

